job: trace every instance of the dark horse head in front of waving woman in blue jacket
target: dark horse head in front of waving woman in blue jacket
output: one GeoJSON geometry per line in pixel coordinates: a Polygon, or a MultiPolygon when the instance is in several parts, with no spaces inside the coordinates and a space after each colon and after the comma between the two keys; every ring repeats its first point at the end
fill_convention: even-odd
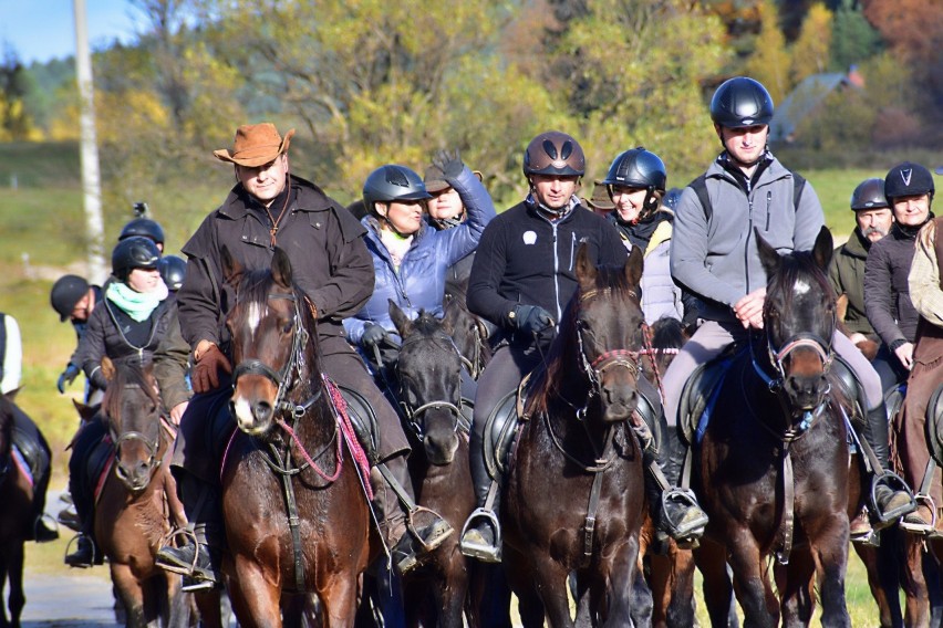
{"type": "Polygon", "coordinates": [[[403,338],[396,363],[400,405],[429,463],[450,464],[462,415],[462,356],[450,324],[424,311],[410,321],[392,301],[390,317],[403,338]]]}

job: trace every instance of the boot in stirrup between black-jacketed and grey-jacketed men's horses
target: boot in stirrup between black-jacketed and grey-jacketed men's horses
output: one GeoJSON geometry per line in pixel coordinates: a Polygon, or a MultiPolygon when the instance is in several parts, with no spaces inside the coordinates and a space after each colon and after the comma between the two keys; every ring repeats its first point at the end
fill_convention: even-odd
{"type": "MultiPolygon", "coordinates": [[[[707,513],[701,509],[694,491],[678,485],[687,446],[681,441],[676,428],[670,427],[664,433],[657,462],[669,485],[661,491],[657,504],[652,504],[652,516],[657,526],[680,545],[691,546],[704,534],[707,513]]],[[[646,482],[653,481],[650,473],[645,475],[646,482]]]]}

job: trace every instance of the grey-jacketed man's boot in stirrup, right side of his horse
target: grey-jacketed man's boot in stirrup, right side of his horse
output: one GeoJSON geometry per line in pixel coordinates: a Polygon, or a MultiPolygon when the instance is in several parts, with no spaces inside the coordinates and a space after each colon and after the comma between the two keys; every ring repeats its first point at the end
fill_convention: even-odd
{"type": "Polygon", "coordinates": [[[871,470],[871,494],[877,530],[891,525],[916,509],[913,493],[906,483],[888,468],[888,410],[883,402],[868,411],[864,439],[874,452],[874,462],[880,467],[871,470]]]}

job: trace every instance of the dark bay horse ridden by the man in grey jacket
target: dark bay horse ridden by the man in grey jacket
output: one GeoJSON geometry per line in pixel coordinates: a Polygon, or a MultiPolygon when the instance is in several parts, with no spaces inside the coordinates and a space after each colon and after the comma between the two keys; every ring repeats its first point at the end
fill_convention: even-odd
{"type": "Polygon", "coordinates": [[[712,622],[726,625],[733,569],[747,626],[850,626],[847,418],[830,371],[832,252],[822,228],[811,252],[777,254],[755,232],[768,285],[761,336],[729,365],[695,444],[693,481],[711,522],[695,551],[712,622]],[[778,596],[767,561],[776,555],[778,596]],[[817,579],[814,579],[816,578],[817,579]]]}

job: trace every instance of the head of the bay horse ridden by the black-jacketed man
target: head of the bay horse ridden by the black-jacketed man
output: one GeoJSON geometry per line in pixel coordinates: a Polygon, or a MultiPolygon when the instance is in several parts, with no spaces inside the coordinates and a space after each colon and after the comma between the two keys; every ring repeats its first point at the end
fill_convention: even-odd
{"type": "Polygon", "coordinates": [[[607,422],[626,420],[638,404],[645,323],[639,297],[642,263],[642,253],[634,247],[621,269],[597,268],[587,244],[577,254],[579,291],[572,336],[607,422]]]}

